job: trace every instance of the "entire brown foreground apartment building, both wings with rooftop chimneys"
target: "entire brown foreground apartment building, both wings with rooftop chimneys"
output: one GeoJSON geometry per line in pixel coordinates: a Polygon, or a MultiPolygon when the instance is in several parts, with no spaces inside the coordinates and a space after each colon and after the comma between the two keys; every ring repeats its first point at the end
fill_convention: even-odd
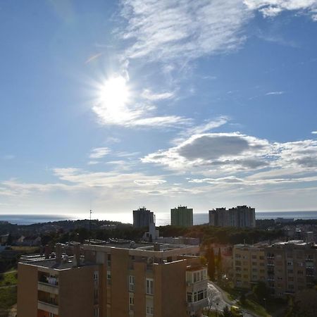
{"type": "Polygon", "coordinates": [[[198,246],[112,240],[19,263],[19,317],[187,317],[208,304],[198,246]]]}

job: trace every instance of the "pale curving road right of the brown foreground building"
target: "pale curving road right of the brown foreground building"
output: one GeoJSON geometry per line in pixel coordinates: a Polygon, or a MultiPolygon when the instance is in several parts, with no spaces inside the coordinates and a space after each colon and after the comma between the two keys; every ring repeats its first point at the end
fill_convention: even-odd
{"type": "MultiPolygon", "coordinates": [[[[211,302],[211,309],[213,311],[223,311],[225,306],[232,306],[235,305],[235,301],[231,301],[228,299],[227,295],[223,290],[220,289],[217,285],[215,285],[213,282],[208,282],[208,298],[211,302]]],[[[254,315],[254,313],[251,313],[250,311],[247,311],[245,309],[241,309],[244,317],[258,317],[257,315],[254,315]]]]}

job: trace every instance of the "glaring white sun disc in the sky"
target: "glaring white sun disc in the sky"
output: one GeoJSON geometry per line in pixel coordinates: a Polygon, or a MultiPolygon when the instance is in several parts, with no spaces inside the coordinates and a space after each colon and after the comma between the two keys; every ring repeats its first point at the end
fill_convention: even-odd
{"type": "Polygon", "coordinates": [[[128,103],[131,96],[128,80],[125,77],[120,75],[109,77],[99,85],[98,95],[99,109],[102,109],[104,118],[114,123],[129,119],[128,103]]]}

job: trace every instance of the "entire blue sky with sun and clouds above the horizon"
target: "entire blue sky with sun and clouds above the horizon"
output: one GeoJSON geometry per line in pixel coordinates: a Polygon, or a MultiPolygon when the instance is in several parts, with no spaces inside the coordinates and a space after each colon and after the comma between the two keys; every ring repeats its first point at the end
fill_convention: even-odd
{"type": "Polygon", "coordinates": [[[316,0],[0,0],[0,43],[0,213],[317,210],[316,0]]]}

